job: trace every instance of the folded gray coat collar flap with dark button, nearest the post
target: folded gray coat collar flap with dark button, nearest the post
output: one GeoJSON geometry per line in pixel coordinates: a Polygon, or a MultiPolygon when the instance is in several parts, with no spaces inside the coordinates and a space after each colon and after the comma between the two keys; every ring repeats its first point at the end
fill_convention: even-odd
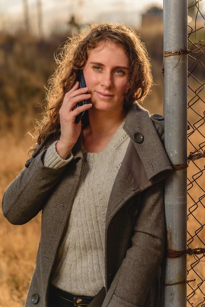
{"type": "Polygon", "coordinates": [[[140,159],[142,164],[140,171],[145,172],[148,180],[155,181],[159,174],[162,175],[165,172],[167,174],[162,176],[162,179],[164,179],[172,173],[170,160],[160,139],[162,135],[158,135],[147,110],[140,107],[139,104],[134,104],[128,111],[123,128],[128,133],[132,143],[128,147],[123,161],[125,171],[136,172],[136,169],[131,166],[132,164],[133,166],[138,165],[140,159]],[[131,147],[134,147],[137,158],[132,156],[134,151],[131,147]]]}

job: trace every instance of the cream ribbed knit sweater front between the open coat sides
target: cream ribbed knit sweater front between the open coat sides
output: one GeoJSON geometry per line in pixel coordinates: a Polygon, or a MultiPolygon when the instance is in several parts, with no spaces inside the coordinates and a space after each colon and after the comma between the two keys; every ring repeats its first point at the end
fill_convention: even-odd
{"type": "Polygon", "coordinates": [[[129,142],[123,124],[102,152],[83,150],[82,174],[51,277],[52,284],[73,294],[95,296],[105,285],[105,215],[129,142]]]}

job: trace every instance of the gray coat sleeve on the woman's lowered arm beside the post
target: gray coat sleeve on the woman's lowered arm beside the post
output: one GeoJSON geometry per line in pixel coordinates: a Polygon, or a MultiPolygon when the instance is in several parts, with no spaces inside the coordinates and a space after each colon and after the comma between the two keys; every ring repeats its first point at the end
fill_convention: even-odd
{"type": "Polygon", "coordinates": [[[139,213],[127,250],[106,294],[103,307],[157,307],[160,289],[148,292],[165,248],[164,188],[159,182],[142,193],[139,213]],[[149,302],[150,300],[150,302],[149,302]]]}

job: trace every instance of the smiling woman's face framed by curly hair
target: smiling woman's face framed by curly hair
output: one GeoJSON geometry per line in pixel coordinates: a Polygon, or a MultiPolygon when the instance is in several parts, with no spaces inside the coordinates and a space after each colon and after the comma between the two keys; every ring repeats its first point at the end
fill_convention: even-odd
{"type": "Polygon", "coordinates": [[[90,101],[98,110],[122,110],[128,89],[129,61],[125,50],[110,41],[89,51],[83,69],[90,101]]]}

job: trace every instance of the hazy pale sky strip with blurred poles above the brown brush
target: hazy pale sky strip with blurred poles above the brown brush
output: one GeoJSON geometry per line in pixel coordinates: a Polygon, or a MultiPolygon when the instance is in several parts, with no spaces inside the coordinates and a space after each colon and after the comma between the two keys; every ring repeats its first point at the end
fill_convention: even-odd
{"type": "Polygon", "coordinates": [[[126,22],[138,27],[141,15],[154,5],[162,7],[163,0],[144,0],[140,5],[133,0],[59,0],[57,3],[55,0],[1,0],[0,28],[13,33],[17,28],[26,28],[35,34],[49,35],[52,31],[68,30],[69,23],[74,21],[78,25],[126,22]]]}

